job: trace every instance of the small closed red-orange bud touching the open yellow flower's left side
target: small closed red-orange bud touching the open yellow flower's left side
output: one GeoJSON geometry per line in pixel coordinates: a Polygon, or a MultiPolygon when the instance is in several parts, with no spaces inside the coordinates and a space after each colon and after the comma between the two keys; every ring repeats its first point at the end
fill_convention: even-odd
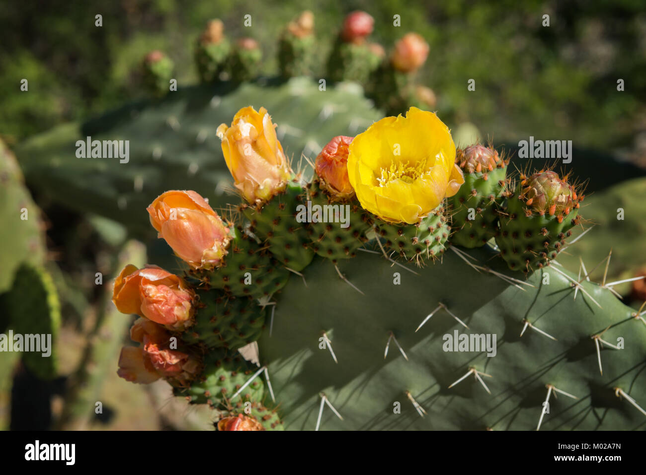
{"type": "Polygon", "coordinates": [[[329,141],[318,154],[314,167],[321,187],[333,197],[346,199],[355,190],[348,177],[348,147],[354,137],[338,136],[329,141]]]}

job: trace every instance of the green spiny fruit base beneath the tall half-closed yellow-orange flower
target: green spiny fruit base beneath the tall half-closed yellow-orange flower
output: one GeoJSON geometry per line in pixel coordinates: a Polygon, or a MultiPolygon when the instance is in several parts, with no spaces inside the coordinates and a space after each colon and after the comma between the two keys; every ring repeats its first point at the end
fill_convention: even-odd
{"type": "Polygon", "coordinates": [[[304,204],[304,196],[305,190],[296,181],[289,181],[284,192],[262,207],[242,205],[242,212],[251,222],[251,232],[271,244],[269,250],[280,263],[297,272],[314,257],[309,248],[309,223],[296,220],[297,207],[304,204]]]}

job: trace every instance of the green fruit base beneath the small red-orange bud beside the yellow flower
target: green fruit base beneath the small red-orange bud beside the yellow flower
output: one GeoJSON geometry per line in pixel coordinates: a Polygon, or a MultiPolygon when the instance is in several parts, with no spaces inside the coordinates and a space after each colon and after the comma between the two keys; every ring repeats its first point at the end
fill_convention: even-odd
{"type": "MultiPolygon", "coordinates": [[[[342,228],[341,223],[310,223],[311,248],[324,258],[348,259],[355,256],[355,251],[360,248],[368,238],[366,233],[371,230],[373,219],[361,207],[356,199],[350,201],[332,202],[326,193],[321,190],[317,179],[307,185],[307,199],[312,207],[319,205],[349,206],[349,226],[342,228]]],[[[322,208],[323,209],[323,208],[322,208]]],[[[346,216],[346,215],[344,215],[346,216]]]]}

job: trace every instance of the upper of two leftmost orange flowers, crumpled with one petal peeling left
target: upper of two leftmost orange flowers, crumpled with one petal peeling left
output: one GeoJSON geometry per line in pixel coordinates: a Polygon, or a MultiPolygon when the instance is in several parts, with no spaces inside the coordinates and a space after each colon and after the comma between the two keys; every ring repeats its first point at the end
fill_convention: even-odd
{"type": "Polygon", "coordinates": [[[157,266],[129,264],[114,281],[112,301],[125,314],[137,314],[173,329],[189,326],[193,290],[178,276],[157,266]]]}

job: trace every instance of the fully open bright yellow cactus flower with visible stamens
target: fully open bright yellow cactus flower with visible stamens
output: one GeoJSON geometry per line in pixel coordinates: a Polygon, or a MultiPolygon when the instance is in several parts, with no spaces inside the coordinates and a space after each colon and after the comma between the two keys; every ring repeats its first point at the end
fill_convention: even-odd
{"type": "Polygon", "coordinates": [[[389,223],[418,223],[464,183],[451,132],[434,112],[411,107],[352,141],[348,177],[362,207],[389,223]]]}

